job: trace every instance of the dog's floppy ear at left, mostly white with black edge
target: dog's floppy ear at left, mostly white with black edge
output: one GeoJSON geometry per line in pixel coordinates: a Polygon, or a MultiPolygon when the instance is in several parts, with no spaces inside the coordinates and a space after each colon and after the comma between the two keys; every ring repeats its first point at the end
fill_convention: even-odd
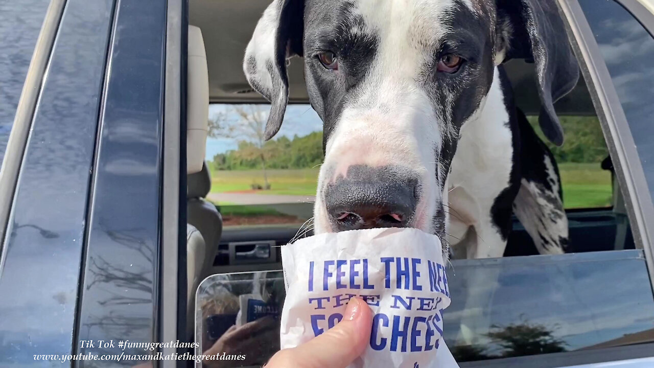
{"type": "Polygon", "coordinates": [[[304,0],[275,0],[264,11],[245,50],[243,71],[250,86],[270,101],[264,137],[273,138],[288,103],[286,60],[302,56],[304,0]]]}

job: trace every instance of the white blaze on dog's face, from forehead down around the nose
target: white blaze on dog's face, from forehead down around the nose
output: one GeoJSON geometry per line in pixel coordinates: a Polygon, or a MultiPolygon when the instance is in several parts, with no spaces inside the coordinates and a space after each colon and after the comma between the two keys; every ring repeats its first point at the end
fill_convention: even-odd
{"type": "MultiPolygon", "coordinates": [[[[318,177],[318,193],[328,181],[347,173],[354,164],[400,164],[421,174],[424,194],[416,210],[414,227],[433,232],[432,217],[443,188],[434,172],[434,148],[440,149],[442,117],[430,107],[428,96],[415,83],[429,55],[424,43],[438,43],[445,34],[442,17],[455,5],[452,0],[358,1],[356,12],[381,39],[358,98],[347,104],[326,145],[318,177]],[[398,57],[402,55],[402,57],[398,57]],[[368,86],[368,87],[366,87],[368,86]],[[385,108],[386,106],[386,108],[385,108]],[[389,108],[392,106],[392,109],[389,108]]],[[[351,29],[357,33],[361,29],[351,29]]],[[[315,232],[330,231],[322,198],[314,210],[315,232]]]]}

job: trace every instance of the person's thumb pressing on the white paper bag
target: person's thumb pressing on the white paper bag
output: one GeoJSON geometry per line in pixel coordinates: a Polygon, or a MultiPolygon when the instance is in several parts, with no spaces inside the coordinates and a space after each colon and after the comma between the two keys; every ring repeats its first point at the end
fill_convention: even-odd
{"type": "Polygon", "coordinates": [[[281,350],[266,368],[345,368],[366,350],[371,328],[370,307],[353,297],[341,322],[296,348],[281,350]]]}

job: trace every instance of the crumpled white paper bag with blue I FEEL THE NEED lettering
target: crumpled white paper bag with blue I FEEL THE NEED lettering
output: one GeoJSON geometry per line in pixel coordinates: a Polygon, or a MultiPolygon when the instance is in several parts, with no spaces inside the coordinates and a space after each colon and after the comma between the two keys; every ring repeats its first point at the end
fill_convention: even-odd
{"type": "Polygon", "coordinates": [[[450,294],[437,236],[417,229],[351,230],[298,240],[281,254],[281,348],[336,325],[358,295],[373,311],[373,328],[351,368],[458,368],[442,339],[450,294]]]}

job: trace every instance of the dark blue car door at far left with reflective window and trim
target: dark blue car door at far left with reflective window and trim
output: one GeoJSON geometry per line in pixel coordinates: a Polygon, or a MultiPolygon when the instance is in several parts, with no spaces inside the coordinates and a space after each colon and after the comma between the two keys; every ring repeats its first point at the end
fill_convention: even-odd
{"type": "MultiPolygon", "coordinates": [[[[0,362],[15,366],[33,364],[39,354],[72,354],[77,347],[84,224],[113,1],[1,6],[10,7],[0,13],[1,23],[17,26],[3,29],[3,54],[14,47],[5,40],[32,38],[17,40],[31,45],[21,45],[24,54],[16,58],[23,60],[22,71],[11,70],[16,64],[9,69],[9,85],[23,91],[20,100],[13,96],[17,108],[4,102],[2,107],[3,119],[14,123],[9,139],[3,134],[7,150],[0,175],[0,362]]],[[[7,86],[6,76],[1,83],[7,86]]]]}

